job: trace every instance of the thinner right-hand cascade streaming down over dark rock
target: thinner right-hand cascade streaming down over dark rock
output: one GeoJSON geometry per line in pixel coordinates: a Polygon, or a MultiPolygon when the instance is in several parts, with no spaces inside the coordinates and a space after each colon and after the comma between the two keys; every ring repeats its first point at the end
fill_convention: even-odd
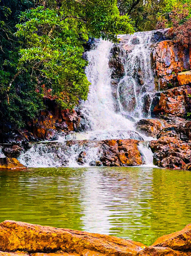
{"type": "Polygon", "coordinates": [[[155,94],[151,65],[151,43],[154,31],[121,36],[119,44],[123,52],[120,61],[124,76],[118,81],[117,101],[120,112],[128,112],[137,118],[150,117],[155,94]]]}

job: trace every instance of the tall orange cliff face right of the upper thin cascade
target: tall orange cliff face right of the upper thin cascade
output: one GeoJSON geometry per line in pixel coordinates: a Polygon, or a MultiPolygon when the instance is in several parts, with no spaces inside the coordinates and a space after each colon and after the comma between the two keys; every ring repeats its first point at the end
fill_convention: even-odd
{"type": "Polygon", "coordinates": [[[191,49],[173,41],[162,41],[152,46],[152,62],[157,78],[157,89],[183,85],[178,83],[177,74],[184,69],[191,69],[191,49]]]}

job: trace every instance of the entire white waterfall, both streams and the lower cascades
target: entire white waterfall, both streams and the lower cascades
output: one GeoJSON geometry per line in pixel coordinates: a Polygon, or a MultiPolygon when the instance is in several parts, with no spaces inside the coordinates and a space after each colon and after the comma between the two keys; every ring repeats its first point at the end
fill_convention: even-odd
{"type": "MultiPolygon", "coordinates": [[[[150,114],[154,94],[149,48],[152,35],[151,31],[120,36],[118,60],[123,65],[124,73],[118,78],[113,78],[111,67],[112,49],[116,45],[97,40],[94,48],[87,52],[89,65],[86,75],[91,86],[88,100],[80,105],[87,131],[69,134],[57,142],[35,143],[21,155],[21,163],[29,167],[88,166],[99,160],[100,140],[150,140],[151,138],[135,131],[134,123],[135,120],[149,117],[150,114]],[[113,96],[115,92],[112,84],[116,86],[116,97],[113,96]],[[82,154],[83,162],[80,163],[82,154]]],[[[145,145],[139,146],[143,155],[147,148],[145,145]]],[[[151,150],[147,150],[146,154],[151,157],[147,156],[145,162],[151,164],[151,150]]]]}

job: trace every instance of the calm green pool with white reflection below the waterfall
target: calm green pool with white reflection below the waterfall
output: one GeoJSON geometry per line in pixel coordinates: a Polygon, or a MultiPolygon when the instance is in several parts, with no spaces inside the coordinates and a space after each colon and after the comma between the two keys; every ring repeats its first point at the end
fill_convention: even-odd
{"type": "Polygon", "coordinates": [[[191,172],[151,167],[0,171],[0,222],[8,219],[152,244],[191,223],[191,172]]]}

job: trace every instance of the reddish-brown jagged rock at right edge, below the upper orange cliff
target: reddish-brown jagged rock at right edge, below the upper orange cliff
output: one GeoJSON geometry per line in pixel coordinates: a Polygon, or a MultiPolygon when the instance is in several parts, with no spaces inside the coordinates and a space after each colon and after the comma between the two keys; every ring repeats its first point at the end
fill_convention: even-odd
{"type": "Polygon", "coordinates": [[[186,96],[191,93],[188,85],[175,87],[161,93],[160,101],[154,108],[153,113],[158,115],[174,115],[181,118],[187,116],[186,96]]]}

